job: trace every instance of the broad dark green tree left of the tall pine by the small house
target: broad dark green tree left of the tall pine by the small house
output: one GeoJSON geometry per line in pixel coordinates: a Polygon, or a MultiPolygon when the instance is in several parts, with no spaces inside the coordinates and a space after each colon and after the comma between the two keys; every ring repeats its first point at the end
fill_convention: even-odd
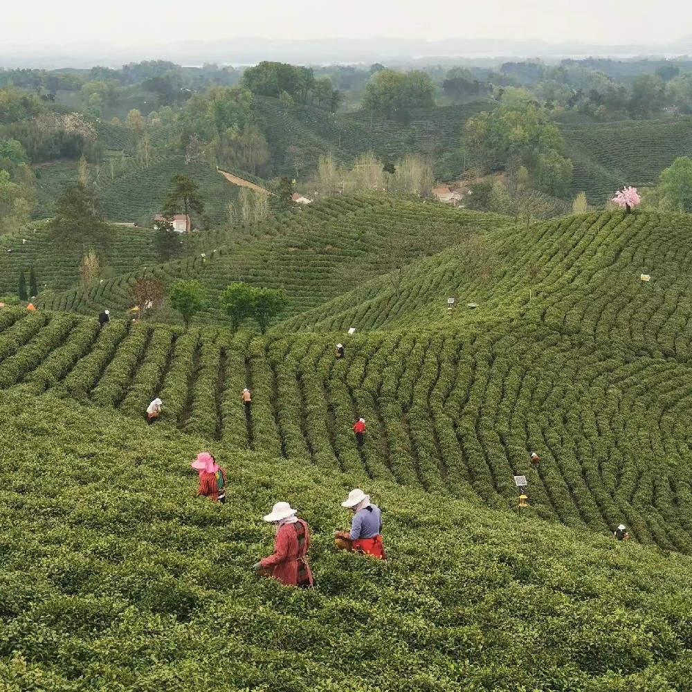
{"type": "Polygon", "coordinates": [[[80,257],[89,246],[107,243],[109,227],[93,185],[68,183],[55,203],[55,215],[48,227],[63,248],[75,248],[80,257]]]}

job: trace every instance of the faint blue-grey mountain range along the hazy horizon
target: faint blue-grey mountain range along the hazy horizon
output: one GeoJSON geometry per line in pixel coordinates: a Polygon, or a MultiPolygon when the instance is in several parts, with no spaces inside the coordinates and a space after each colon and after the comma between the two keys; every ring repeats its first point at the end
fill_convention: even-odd
{"type": "Polygon", "coordinates": [[[219,41],[188,41],[176,44],[149,44],[121,47],[103,43],[70,46],[12,46],[0,44],[0,66],[58,69],[86,68],[96,64],[120,66],[139,60],[173,60],[184,65],[204,62],[256,64],[261,60],[283,60],[301,64],[388,62],[410,63],[424,60],[448,62],[468,60],[506,60],[541,57],[677,57],[692,55],[692,36],[665,46],[597,45],[583,42],[552,44],[546,41],[505,39],[264,39],[237,38],[219,41]]]}

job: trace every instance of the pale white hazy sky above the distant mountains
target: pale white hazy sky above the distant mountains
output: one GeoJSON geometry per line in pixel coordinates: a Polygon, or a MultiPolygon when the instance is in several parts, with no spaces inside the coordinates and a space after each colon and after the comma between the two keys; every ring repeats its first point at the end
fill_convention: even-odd
{"type": "Polygon", "coordinates": [[[185,39],[545,39],[662,44],[692,25],[686,0],[9,0],[0,46],[141,46],[185,39]]]}

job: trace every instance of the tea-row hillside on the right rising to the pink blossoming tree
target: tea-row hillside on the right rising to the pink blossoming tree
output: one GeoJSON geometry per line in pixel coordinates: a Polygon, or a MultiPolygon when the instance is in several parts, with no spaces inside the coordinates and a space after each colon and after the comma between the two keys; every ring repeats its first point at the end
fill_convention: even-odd
{"type": "Polygon", "coordinates": [[[392,277],[372,280],[280,328],[401,329],[421,322],[461,327],[523,317],[687,363],[691,231],[689,215],[648,212],[489,226],[478,237],[410,264],[396,284],[392,277]],[[650,282],[642,282],[641,274],[649,274],[650,282]],[[451,317],[449,296],[458,298],[451,317]],[[471,302],[478,307],[469,310],[471,302]]]}

